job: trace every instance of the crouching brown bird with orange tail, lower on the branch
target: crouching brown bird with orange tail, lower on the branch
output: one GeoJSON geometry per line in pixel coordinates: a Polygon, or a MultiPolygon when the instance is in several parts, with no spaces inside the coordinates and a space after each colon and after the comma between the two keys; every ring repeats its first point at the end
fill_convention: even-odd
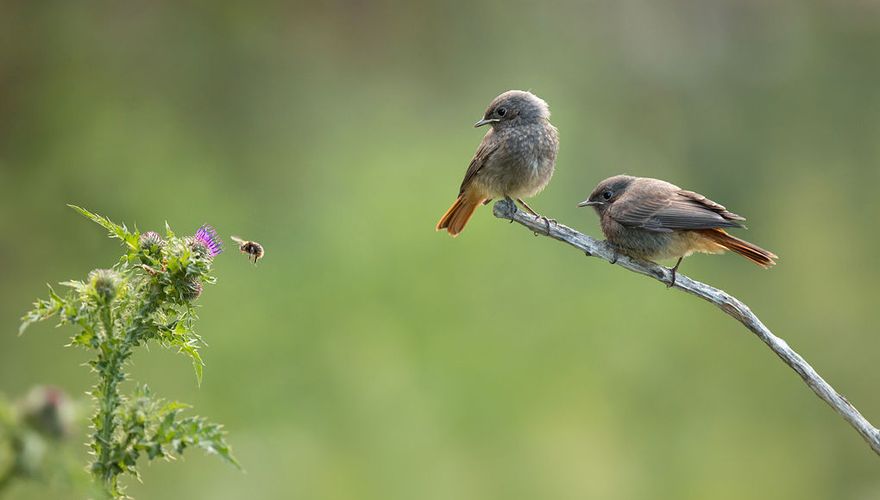
{"type": "Polygon", "coordinates": [[[678,259],[672,268],[672,286],[681,260],[695,252],[736,252],[768,268],[778,257],[748,241],[731,236],[728,227],[745,227],[744,217],[693,191],[659,179],[617,175],[600,182],[590,198],[601,220],[602,232],[622,253],[646,260],[678,259]]]}

